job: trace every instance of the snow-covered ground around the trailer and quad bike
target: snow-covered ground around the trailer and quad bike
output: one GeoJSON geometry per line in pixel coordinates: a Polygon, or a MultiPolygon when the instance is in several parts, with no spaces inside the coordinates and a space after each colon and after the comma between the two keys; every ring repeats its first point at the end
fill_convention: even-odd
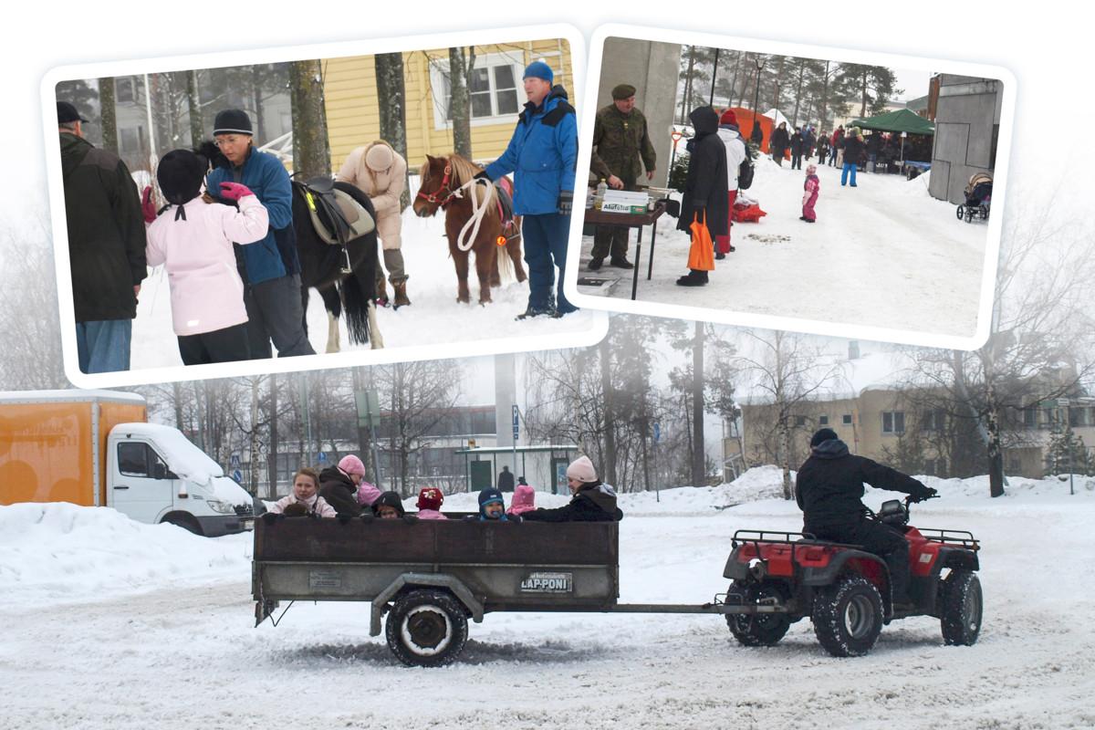
{"type": "MultiPolygon", "coordinates": [[[[252,627],[250,541],[132,525],[108,510],[0,508],[0,683],[11,728],[1023,728],[1095,726],[1095,479],[925,480],[913,522],[981,538],[984,627],[884,628],[833,659],[808,621],[747,649],[716,616],[491,614],[457,663],[406,669],[358,604],[298,604],[252,627]],[[1033,546],[1036,546],[1033,548],[1033,546]]],[[[779,471],[624,495],[621,601],[725,590],[734,530],[800,524],[779,471]],[[736,502],[737,506],[726,508],[736,502]],[[726,509],[715,509],[726,508],[726,509]]],[[[886,493],[872,491],[877,506],[886,493]]],[[[452,496],[461,509],[470,496],[452,496]]],[[[546,505],[557,500],[538,495],[546,505]]]]}

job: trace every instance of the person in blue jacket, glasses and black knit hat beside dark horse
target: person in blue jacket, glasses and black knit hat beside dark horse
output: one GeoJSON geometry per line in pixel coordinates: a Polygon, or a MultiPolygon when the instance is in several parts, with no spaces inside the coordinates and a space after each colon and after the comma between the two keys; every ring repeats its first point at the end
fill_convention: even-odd
{"type": "Polygon", "coordinates": [[[221,183],[246,185],[270,219],[265,239],[237,246],[237,263],[245,285],[243,303],[247,308],[251,357],[270,357],[270,339],[278,357],[315,355],[304,334],[289,173],[277,158],[254,148],[251,119],[241,109],[219,112],[212,136],[227,163],[209,173],[206,189],[216,193],[221,183]]]}

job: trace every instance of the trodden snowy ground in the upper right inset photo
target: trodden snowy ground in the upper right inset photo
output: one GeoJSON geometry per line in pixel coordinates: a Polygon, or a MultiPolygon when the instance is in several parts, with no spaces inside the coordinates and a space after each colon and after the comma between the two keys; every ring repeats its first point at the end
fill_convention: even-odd
{"type": "MultiPolygon", "coordinates": [[[[816,160],[816,158],[815,158],[816,160]]],[[[804,165],[805,166],[805,165],[804,165]]],[[[684,289],[689,235],[662,217],[655,241],[654,273],[646,280],[649,230],[644,234],[637,299],[970,337],[977,325],[987,228],[955,218],[955,206],[927,195],[927,177],[861,173],[856,187],[841,187],[840,170],[818,169],[818,220],[802,216],[805,173],[757,161],[749,195],[768,212],[758,223],[736,223],[737,248],[715,263],[711,283],[684,289]]],[[[634,257],[632,231],[630,257],[634,257]]],[[[604,266],[589,271],[592,236],[581,242],[578,277],[619,277],[612,298],[630,299],[631,271],[604,266]]],[[[608,262],[606,262],[607,264],[608,262]]],[[[581,293],[604,288],[579,286],[581,293]]]]}

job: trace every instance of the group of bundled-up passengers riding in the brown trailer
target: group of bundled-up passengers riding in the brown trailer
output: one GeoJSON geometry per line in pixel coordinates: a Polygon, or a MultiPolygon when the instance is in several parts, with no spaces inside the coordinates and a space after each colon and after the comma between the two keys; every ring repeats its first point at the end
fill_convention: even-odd
{"type": "MultiPolygon", "coordinates": [[[[616,507],[615,490],[597,476],[588,456],[579,456],[566,470],[569,503],[555,509],[538,508],[535,490],[520,477],[512,488],[510,503],[497,487],[479,493],[477,514],[463,519],[479,522],[609,522],[623,519],[616,507]]],[[[336,466],[322,472],[304,467],[292,476],[292,489],[269,507],[273,514],[316,518],[365,518],[379,520],[448,520],[441,512],[445,494],[437,487],[423,487],[415,502],[416,512],[407,512],[397,491],[381,491],[365,480],[365,464],[347,454],[336,466]]]]}

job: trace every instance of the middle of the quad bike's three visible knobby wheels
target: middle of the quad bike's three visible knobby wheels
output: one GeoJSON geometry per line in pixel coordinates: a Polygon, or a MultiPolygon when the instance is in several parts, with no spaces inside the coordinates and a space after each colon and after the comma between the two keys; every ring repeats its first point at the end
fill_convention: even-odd
{"type": "Polygon", "coordinates": [[[863,576],[849,575],[814,598],[814,634],[833,657],[862,657],[883,630],[883,596],[863,576]]]}

